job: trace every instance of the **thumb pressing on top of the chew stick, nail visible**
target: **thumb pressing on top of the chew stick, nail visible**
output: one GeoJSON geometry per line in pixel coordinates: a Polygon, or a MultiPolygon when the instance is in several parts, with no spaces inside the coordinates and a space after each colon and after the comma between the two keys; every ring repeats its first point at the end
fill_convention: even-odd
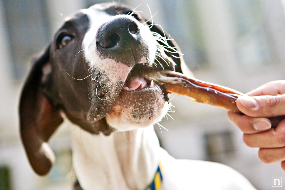
{"type": "Polygon", "coordinates": [[[285,115],[285,95],[277,96],[241,96],[237,107],[250,117],[275,117],[285,115]]]}

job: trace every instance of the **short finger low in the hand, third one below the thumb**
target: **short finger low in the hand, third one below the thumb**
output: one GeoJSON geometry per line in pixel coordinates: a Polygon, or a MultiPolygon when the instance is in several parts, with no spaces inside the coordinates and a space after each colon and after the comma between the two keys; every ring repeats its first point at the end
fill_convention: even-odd
{"type": "Polygon", "coordinates": [[[272,164],[285,160],[285,147],[280,148],[260,148],[258,157],[264,164],[272,164]]]}

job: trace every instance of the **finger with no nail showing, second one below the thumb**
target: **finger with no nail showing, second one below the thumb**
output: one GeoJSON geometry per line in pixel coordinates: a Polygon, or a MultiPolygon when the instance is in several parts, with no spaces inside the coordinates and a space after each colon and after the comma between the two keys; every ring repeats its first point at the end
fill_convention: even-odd
{"type": "Polygon", "coordinates": [[[244,143],[249,147],[280,148],[285,146],[285,120],[277,127],[255,134],[243,134],[244,143]]]}

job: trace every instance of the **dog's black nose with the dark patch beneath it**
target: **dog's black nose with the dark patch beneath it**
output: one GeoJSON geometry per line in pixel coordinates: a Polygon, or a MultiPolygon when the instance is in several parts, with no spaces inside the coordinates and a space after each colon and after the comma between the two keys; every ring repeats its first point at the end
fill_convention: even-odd
{"type": "Polygon", "coordinates": [[[96,46],[101,57],[133,66],[144,56],[140,28],[133,19],[126,16],[103,24],[97,31],[96,46]]]}

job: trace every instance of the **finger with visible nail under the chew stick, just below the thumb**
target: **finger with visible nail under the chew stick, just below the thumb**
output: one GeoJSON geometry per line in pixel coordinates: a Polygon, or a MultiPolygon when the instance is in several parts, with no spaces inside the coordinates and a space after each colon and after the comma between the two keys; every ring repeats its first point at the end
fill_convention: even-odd
{"type": "Polygon", "coordinates": [[[247,134],[261,132],[271,128],[271,122],[268,118],[249,117],[231,111],[228,111],[227,115],[232,124],[236,125],[242,132],[247,134]]]}

